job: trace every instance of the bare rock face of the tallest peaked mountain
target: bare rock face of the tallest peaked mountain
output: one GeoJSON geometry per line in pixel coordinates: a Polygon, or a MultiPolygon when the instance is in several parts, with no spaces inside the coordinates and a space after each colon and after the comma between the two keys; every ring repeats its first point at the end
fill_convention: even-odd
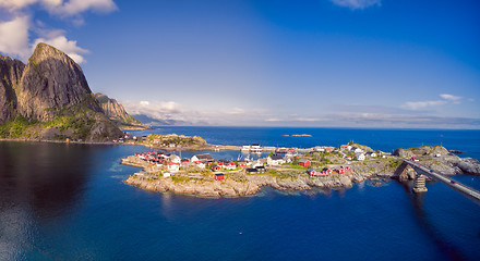
{"type": "Polygon", "coordinates": [[[82,69],[62,51],[38,44],[19,86],[17,110],[22,115],[40,122],[50,121],[62,109],[83,104],[95,112],[101,109],[82,69]]]}

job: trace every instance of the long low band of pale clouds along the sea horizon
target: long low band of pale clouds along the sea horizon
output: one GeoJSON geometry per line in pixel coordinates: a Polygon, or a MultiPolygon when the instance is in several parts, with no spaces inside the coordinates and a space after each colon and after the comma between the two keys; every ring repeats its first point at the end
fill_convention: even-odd
{"type": "MultiPolygon", "coordinates": [[[[454,99],[449,97],[447,99],[454,99]]],[[[447,101],[445,101],[447,102],[447,101]]],[[[177,122],[179,125],[221,126],[312,126],[312,127],[445,127],[471,128],[480,126],[480,119],[441,117],[424,115],[405,109],[355,107],[351,112],[320,113],[315,115],[281,115],[268,110],[227,108],[225,110],[193,110],[173,101],[124,102],[125,110],[133,115],[146,115],[160,122],[177,122]]],[[[347,105],[348,108],[348,105],[347,105]]]]}

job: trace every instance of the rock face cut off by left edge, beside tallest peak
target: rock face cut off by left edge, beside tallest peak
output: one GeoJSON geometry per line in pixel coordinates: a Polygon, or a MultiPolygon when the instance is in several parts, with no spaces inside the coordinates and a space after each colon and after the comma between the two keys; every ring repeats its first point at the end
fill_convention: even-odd
{"type": "Polygon", "coordinates": [[[16,113],[17,88],[25,64],[0,55],[0,124],[8,122],[16,113]]]}

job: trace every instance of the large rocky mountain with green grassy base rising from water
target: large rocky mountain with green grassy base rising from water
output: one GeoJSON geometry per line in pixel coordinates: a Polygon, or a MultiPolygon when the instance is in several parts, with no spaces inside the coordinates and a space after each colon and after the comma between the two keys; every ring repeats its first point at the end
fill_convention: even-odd
{"type": "Polygon", "coordinates": [[[25,66],[0,57],[0,137],[107,140],[122,132],[103,112],[82,69],[38,44],[25,66]]]}

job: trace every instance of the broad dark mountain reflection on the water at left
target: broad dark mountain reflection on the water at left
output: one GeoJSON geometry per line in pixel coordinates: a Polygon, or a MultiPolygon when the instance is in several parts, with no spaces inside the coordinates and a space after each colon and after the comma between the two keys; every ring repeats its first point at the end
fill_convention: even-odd
{"type": "Polygon", "coordinates": [[[88,179],[91,150],[79,145],[0,142],[0,213],[21,207],[41,219],[68,211],[88,179]]]}

